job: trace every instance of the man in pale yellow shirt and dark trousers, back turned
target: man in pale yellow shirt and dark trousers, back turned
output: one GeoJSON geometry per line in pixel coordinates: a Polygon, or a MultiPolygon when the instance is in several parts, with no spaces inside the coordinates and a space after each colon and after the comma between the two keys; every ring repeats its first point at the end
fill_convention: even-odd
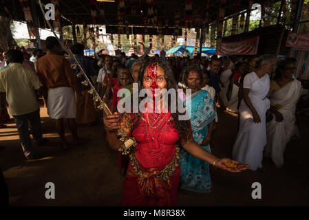
{"type": "Polygon", "coordinates": [[[38,145],[45,142],[41,132],[39,103],[34,91],[34,89],[41,89],[42,84],[33,71],[23,66],[21,51],[9,50],[6,56],[11,65],[0,71],[0,92],[6,92],[6,100],[19,131],[23,153],[27,159],[33,159],[28,120],[30,120],[35,142],[38,145]]]}

